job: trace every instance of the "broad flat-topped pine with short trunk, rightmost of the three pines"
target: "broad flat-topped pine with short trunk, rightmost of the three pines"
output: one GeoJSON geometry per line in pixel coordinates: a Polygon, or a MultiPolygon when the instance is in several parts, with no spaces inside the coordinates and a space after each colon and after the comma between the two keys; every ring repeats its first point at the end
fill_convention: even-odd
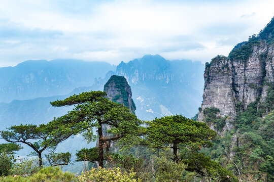
{"type": "Polygon", "coordinates": [[[187,119],[182,115],[165,116],[146,122],[146,145],[151,148],[170,147],[174,161],[178,160],[178,151],[188,146],[201,149],[211,147],[210,141],[217,135],[205,123],[187,119]]]}

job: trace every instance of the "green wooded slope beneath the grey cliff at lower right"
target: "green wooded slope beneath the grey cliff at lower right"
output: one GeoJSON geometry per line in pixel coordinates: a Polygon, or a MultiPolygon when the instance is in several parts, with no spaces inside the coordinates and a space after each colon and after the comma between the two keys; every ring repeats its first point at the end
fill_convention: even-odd
{"type": "Polygon", "coordinates": [[[255,178],[261,181],[274,179],[273,111],[264,119],[261,115],[257,110],[257,102],[251,103],[246,111],[237,116],[236,128],[226,132],[224,137],[214,142],[213,148],[205,151],[244,181],[255,181],[255,178]],[[231,138],[236,140],[233,147],[231,138]],[[234,153],[234,157],[230,158],[229,153],[234,153]]]}

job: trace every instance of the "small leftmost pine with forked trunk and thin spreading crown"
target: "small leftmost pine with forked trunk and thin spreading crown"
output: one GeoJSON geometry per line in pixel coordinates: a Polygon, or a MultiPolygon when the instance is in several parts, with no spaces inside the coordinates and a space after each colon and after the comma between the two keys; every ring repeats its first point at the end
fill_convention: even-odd
{"type": "Polygon", "coordinates": [[[52,126],[49,124],[18,125],[11,126],[7,131],[1,131],[4,140],[10,143],[23,143],[31,147],[39,158],[39,166],[42,166],[42,152],[46,149],[54,148],[61,141],[67,139],[66,135],[49,135],[52,126]]]}

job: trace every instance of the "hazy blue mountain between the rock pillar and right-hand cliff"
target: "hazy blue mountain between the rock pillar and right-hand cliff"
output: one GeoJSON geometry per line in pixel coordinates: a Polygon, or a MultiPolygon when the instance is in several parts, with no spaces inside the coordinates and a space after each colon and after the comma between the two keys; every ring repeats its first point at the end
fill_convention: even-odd
{"type": "Polygon", "coordinates": [[[132,89],[135,113],[140,119],[172,114],[192,117],[202,100],[203,69],[201,62],[168,61],[159,55],[145,55],[121,62],[104,79],[96,78],[93,87],[102,89],[111,75],[124,76],[132,89]]]}

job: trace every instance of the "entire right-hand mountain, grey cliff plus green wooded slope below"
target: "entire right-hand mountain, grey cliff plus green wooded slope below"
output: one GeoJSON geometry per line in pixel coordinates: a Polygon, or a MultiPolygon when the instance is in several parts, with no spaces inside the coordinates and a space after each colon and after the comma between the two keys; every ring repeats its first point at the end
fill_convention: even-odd
{"type": "Polygon", "coordinates": [[[198,121],[219,135],[205,149],[240,181],[274,181],[274,17],[228,57],[205,64],[198,121]]]}

